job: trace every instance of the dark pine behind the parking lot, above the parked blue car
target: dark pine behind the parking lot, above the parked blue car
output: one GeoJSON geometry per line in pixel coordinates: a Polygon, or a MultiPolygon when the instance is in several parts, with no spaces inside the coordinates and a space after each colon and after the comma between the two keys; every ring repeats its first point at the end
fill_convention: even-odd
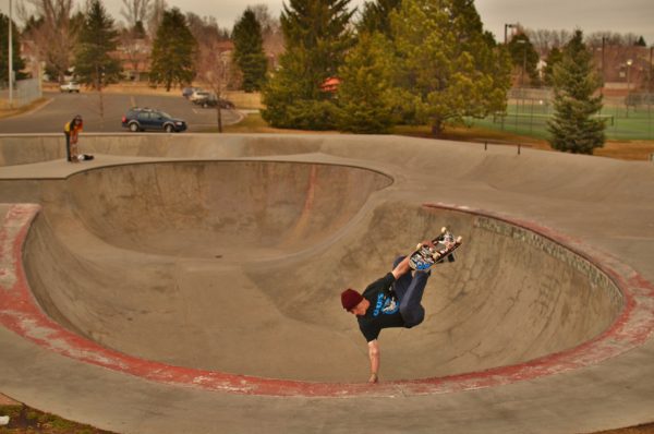
{"type": "Polygon", "coordinates": [[[197,43],[179,9],[165,11],[153,44],[150,84],[186,85],[195,77],[197,43]]]}

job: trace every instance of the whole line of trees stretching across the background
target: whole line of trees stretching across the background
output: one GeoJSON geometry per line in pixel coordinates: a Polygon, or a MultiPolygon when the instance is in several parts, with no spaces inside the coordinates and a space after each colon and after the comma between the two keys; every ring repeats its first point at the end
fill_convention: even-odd
{"type": "MultiPolygon", "coordinates": [[[[263,35],[275,21],[262,7],[249,7],[230,34],[162,0],[123,0],[128,27],[119,32],[98,0],[76,14],[73,0],[28,1],[37,13],[24,32],[41,34],[50,68],[62,74],[72,57],[80,81],[99,92],[120,77],[110,53],[130,37],[143,38],[146,22],[154,38],[149,80],[167,89],[195,79],[222,88],[227,60],[217,47],[231,39],[243,88],[262,92],[262,116],[278,128],[387,133],[397,124],[428,124],[438,135],[447,124],[505,111],[511,70],[520,62],[531,74],[540,59],[526,32],[497,43],[473,0],[370,0],[358,15],[350,0],[288,0],[278,27],[284,50],[270,71],[263,35]]],[[[553,53],[557,62],[546,76],[561,113],[550,122],[553,146],[592,153],[604,142],[604,124],[593,118],[602,100],[592,96],[598,82],[583,35],[553,53]],[[583,122],[566,126],[577,119],[583,122]],[[569,140],[570,129],[583,129],[583,144],[569,140]]]]}

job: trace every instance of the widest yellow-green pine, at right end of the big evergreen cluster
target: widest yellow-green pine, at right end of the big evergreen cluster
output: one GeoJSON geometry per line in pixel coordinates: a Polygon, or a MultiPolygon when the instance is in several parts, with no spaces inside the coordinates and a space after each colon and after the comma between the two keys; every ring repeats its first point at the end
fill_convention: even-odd
{"type": "Polygon", "coordinates": [[[473,0],[402,0],[391,13],[396,106],[404,121],[484,118],[506,107],[510,60],[483,24],[473,0]]]}

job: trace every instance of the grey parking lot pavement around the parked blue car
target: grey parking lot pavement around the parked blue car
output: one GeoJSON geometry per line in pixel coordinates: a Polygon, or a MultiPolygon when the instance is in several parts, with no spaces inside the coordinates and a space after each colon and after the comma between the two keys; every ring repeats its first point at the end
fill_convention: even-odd
{"type": "MultiPolygon", "coordinates": [[[[217,126],[215,109],[197,107],[182,96],[104,94],[105,116],[100,117],[99,97],[95,93],[46,93],[49,103],[32,112],[0,119],[0,133],[53,133],[75,114],[84,118],[85,132],[121,132],[121,119],[130,107],[152,107],[164,110],[189,123],[189,131],[203,132],[217,126]]],[[[223,124],[240,120],[237,111],[222,110],[223,124]]]]}

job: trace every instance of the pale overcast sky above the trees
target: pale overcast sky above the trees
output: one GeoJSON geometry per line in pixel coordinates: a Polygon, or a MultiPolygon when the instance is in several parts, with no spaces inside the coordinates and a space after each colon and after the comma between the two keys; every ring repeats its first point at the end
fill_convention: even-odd
{"type": "MultiPolygon", "coordinates": [[[[13,0],[15,4],[21,0],[13,0]]],[[[231,29],[249,4],[267,4],[278,16],[283,0],[167,0],[170,7],[197,15],[211,15],[221,27],[231,29]]],[[[358,7],[364,0],[351,0],[358,7]]],[[[83,1],[77,0],[81,4],[83,1]]],[[[122,0],[106,0],[104,4],[117,21],[121,21],[122,0]]],[[[505,23],[553,31],[581,28],[585,34],[598,31],[642,35],[654,45],[654,0],[476,0],[484,28],[504,40],[505,23]]],[[[8,13],[9,0],[0,0],[0,10],[8,13]]]]}

